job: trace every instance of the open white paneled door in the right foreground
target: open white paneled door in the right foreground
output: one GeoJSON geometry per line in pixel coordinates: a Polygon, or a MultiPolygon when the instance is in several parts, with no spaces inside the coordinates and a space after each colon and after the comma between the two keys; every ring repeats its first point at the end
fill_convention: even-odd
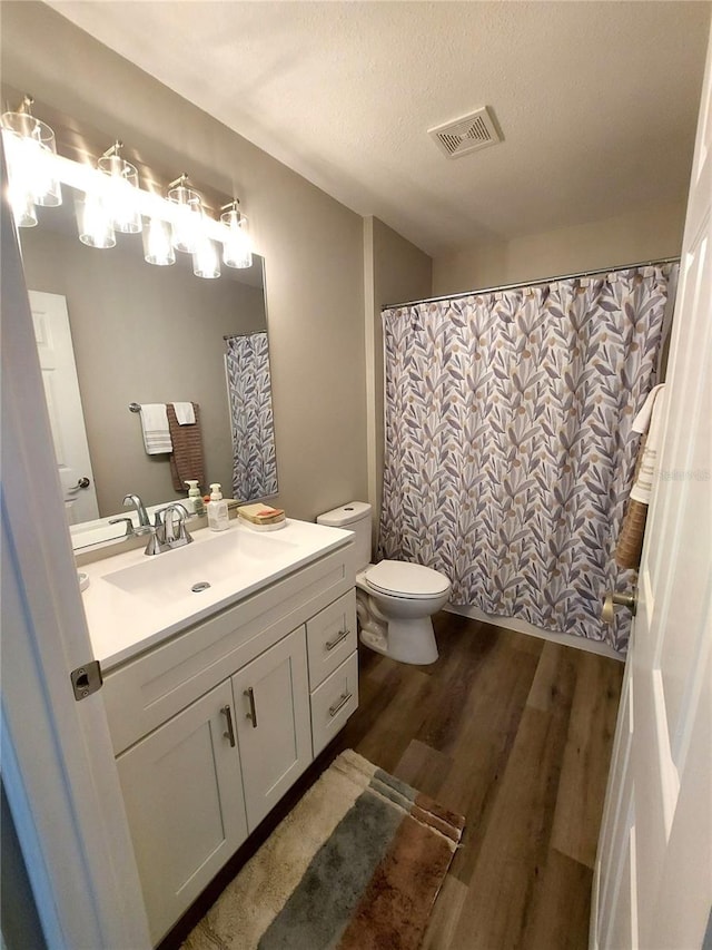
{"type": "Polygon", "coordinates": [[[712,42],[592,946],[695,950],[712,899],[712,42]]]}

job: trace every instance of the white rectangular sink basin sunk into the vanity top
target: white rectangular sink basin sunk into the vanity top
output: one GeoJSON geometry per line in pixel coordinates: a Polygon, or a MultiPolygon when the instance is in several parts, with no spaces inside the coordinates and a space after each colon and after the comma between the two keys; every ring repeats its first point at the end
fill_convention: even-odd
{"type": "Polygon", "coordinates": [[[291,558],[297,548],[294,541],[271,533],[228,528],[208,536],[202,543],[145,557],[140,564],[106,574],[103,579],[142,603],[165,606],[182,597],[197,598],[216,585],[241,588],[256,575],[263,576],[265,567],[291,558]],[[208,586],[194,591],[196,585],[208,586]]]}

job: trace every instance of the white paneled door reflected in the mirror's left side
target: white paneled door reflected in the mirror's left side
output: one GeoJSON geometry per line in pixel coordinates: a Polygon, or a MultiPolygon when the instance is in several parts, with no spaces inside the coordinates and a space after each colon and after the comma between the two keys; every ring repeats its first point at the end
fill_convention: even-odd
{"type": "Polygon", "coordinates": [[[69,525],[99,517],[67,298],[29,291],[44,396],[69,525]]]}

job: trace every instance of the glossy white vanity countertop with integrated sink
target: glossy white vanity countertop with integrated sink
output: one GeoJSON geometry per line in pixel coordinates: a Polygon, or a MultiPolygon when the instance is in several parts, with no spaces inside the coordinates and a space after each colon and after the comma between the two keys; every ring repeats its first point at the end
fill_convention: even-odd
{"type": "Polygon", "coordinates": [[[201,528],[194,543],[148,557],[144,548],[83,565],[82,601],[95,658],[107,670],[348,543],[353,532],[287,519],[278,531],[238,520],[201,528]],[[192,592],[191,586],[210,586],[192,592]]]}

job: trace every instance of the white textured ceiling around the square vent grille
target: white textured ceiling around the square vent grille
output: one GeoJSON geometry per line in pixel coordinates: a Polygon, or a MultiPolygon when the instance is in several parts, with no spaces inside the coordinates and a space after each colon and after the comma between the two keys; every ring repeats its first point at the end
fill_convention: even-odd
{"type": "Polygon", "coordinates": [[[431,254],[686,193],[706,2],[49,6],[431,254]],[[484,105],[504,143],[445,158],[484,105]]]}

